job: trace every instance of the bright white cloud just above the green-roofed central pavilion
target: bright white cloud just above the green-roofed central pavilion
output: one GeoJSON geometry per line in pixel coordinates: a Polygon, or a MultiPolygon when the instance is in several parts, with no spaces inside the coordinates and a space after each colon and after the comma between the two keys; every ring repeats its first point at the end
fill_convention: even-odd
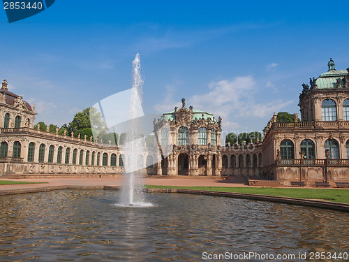
{"type": "MultiPolygon", "coordinates": [[[[269,83],[272,85],[272,83],[269,83]]],[[[154,106],[158,112],[168,112],[173,110],[174,106],[179,106],[178,101],[173,101],[172,94],[174,90],[171,85],[166,86],[165,99],[154,106]]],[[[193,105],[194,109],[205,110],[223,119],[223,130],[237,131],[241,125],[237,120],[269,117],[273,112],[279,112],[281,108],[293,103],[293,101],[260,101],[256,97],[255,90],[258,88],[251,75],[233,78],[231,80],[221,80],[210,82],[208,92],[200,95],[194,95],[187,99],[186,105],[193,105]]],[[[246,120],[245,120],[246,121],[246,120]]]]}

